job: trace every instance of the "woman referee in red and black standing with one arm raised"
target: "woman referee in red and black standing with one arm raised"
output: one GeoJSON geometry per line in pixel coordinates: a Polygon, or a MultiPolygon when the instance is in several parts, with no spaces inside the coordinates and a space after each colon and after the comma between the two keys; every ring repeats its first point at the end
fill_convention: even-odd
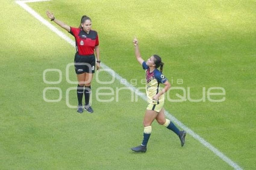
{"type": "Polygon", "coordinates": [[[83,113],[83,93],[85,96],[84,109],[93,113],[92,107],[89,105],[90,93],[91,93],[91,81],[93,73],[95,72],[95,55],[97,58],[96,69],[100,68],[100,56],[99,56],[99,40],[96,31],[91,30],[92,21],[89,17],[84,15],[81,18],[79,28],[74,28],[66,25],[65,23],[57,20],[52,12],[47,11],[47,16],[51,21],[54,21],[58,26],[64,28],[75,37],[76,40],[76,54],[74,59],[75,71],[78,80],[77,85],[77,99],[78,106],[77,112],[83,113]]]}

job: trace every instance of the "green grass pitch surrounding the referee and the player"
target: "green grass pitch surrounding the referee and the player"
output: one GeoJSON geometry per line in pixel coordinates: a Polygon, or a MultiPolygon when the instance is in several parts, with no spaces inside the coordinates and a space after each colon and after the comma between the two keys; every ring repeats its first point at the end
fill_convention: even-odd
{"type": "MultiPolygon", "coordinates": [[[[45,19],[50,10],[75,27],[82,15],[91,17],[101,61],[126,80],[138,80],[136,87],[144,87],[145,73],[134,57],[134,36],[143,58],[159,54],[172,86],[190,87],[192,99],[202,98],[203,87],[223,87],[224,102],[166,100],[164,107],[241,168],[256,169],[255,1],[54,0],[28,5],[45,19]]],[[[95,113],[77,114],[66,105],[66,90],[76,84],[65,78],[75,48],[13,0],[1,2],[1,16],[0,169],[233,169],[190,135],[180,147],[177,136],[156,122],[147,153],[133,153],[130,147],[142,141],[147,103],[140,98],[131,102],[127,90],[120,91],[119,102],[99,102],[93,93],[95,113]],[[52,68],[61,70],[61,83],[44,83],[43,71],[52,68]],[[61,101],[45,102],[46,87],[59,87],[61,101]]],[[[73,66],[69,74],[75,81],[73,66]]],[[[59,79],[57,72],[46,77],[59,79]]],[[[117,80],[99,84],[95,77],[93,92],[124,87],[117,80]]],[[[99,73],[101,81],[111,78],[99,73]]],[[[172,91],[171,98],[178,99],[176,93],[182,95],[172,91]]],[[[59,97],[57,90],[46,96],[59,97]]],[[[76,105],[75,90],[68,96],[76,105]]]]}

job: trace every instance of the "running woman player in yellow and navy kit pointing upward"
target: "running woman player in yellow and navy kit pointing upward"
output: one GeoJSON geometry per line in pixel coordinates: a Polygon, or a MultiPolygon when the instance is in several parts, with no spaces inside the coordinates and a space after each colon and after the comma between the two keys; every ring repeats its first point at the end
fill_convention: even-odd
{"type": "Polygon", "coordinates": [[[146,62],[141,58],[138,46],[138,40],[134,38],[133,44],[135,46],[135,56],[138,62],[142,65],[142,68],[146,70],[146,93],[148,97],[148,107],[145,111],[144,116],[144,133],[142,144],[131,148],[135,152],[146,152],[147,143],[151,134],[151,124],[154,120],[161,125],[164,125],[168,129],[172,130],[179,136],[181,146],[185,144],[186,132],[180,131],[170,120],[165,119],[164,117],[164,93],[170,88],[170,83],[166,77],[162,74],[164,63],[161,61],[161,58],[157,55],[151,56],[146,62]],[[160,67],[160,71],[157,69],[160,67]],[[159,84],[164,84],[164,89],[159,90],[159,84]]]}

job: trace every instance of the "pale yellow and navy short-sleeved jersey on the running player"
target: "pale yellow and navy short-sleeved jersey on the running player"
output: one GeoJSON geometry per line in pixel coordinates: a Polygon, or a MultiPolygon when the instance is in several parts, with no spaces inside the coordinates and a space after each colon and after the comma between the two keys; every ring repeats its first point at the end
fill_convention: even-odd
{"type": "MultiPolygon", "coordinates": [[[[165,83],[167,81],[167,78],[158,69],[150,72],[149,67],[146,65],[145,61],[142,63],[142,68],[146,70],[146,93],[148,97],[148,102],[151,104],[158,104],[153,101],[153,97],[159,91],[159,84],[165,83]]],[[[163,100],[164,95],[161,95],[159,97],[159,101],[163,100]]]]}

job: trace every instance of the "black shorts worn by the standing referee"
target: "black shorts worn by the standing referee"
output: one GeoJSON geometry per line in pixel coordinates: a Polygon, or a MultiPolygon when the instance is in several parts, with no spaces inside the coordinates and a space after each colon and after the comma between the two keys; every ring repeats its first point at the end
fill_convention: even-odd
{"type": "Polygon", "coordinates": [[[74,59],[76,74],[94,73],[95,72],[95,55],[81,56],[75,54],[74,59]]]}

